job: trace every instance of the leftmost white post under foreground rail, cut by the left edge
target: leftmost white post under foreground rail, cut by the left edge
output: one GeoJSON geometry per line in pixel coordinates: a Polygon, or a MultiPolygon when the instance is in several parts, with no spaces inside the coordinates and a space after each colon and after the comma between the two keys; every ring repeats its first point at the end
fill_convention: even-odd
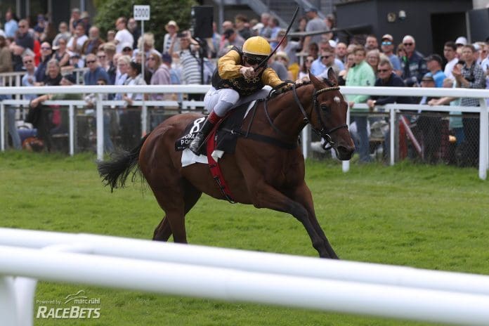
{"type": "MultiPolygon", "coordinates": [[[[0,276],[0,317],[1,324],[19,326],[15,285],[11,276],[0,276]]],[[[31,311],[23,311],[30,315],[31,311]]]]}

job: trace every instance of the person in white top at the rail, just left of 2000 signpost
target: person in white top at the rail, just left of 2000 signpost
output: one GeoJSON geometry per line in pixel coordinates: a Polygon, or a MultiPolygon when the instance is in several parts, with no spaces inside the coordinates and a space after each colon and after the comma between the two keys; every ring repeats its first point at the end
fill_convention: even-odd
{"type": "MultiPolygon", "coordinates": [[[[127,70],[128,78],[124,85],[145,85],[146,82],[141,75],[141,65],[131,62],[127,70]]],[[[121,138],[124,148],[133,148],[141,139],[141,110],[133,106],[134,100],[143,100],[142,93],[126,93],[122,96],[126,101],[126,109],[120,117],[121,121],[121,138]]]]}

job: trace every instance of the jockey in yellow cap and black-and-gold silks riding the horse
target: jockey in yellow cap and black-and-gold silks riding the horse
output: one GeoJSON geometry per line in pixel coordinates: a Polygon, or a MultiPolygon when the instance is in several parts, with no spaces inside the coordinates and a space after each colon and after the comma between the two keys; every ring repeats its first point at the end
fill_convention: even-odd
{"type": "Polygon", "coordinates": [[[263,86],[275,87],[283,83],[275,70],[266,65],[254,71],[270,52],[270,44],[266,39],[250,37],[244,42],[242,49],[233,46],[219,59],[212,76],[212,87],[204,97],[209,117],[188,146],[195,155],[199,155],[200,146],[214,125],[240,100],[240,96],[250,96],[253,100],[264,98],[265,96],[256,96],[263,86]]]}

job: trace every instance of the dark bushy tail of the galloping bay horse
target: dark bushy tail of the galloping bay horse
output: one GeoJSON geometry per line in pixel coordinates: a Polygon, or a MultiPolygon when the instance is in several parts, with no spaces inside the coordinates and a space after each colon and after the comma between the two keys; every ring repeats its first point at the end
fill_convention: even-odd
{"type": "Polygon", "coordinates": [[[98,162],[98,174],[100,174],[102,182],[105,183],[105,185],[110,185],[111,192],[114,191],[114,188],[124,188],[127,176],[129,176],[133,169],[136,168],[134,174],[139,171],[139,152],[141,152],[141,148],[149,135],[150,134],[148,133],[144,136],[143,139],[141,139],[141,143],[131,151],[117,150],[112,152],[110,161],[98,162]]]}

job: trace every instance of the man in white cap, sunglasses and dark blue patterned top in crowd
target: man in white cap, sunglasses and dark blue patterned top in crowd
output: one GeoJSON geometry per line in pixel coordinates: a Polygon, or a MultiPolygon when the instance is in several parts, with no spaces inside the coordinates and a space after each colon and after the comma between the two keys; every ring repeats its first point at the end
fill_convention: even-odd
{"type": "Polygon", "coordinates": [[[416,51],[415,38],[406,35],[403,38],[403,46],[406,56],[400,62],[400,68],[403,70],[403,79],[406,85],[412,86],[418,84],[426,74],[426,62],[423,55],[416,51]]]}

